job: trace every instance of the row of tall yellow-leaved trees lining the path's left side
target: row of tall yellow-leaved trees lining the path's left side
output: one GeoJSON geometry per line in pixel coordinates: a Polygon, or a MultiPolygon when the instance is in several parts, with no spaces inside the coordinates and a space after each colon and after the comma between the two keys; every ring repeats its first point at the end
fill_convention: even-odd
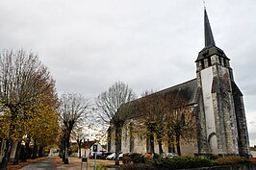
{"type": "Polygon", "coordinates": [[[42,151],[54,142],[59,127],[57,105],[55,82],[36,55],[23,50],[0,53],[0,140],[5,141],[0,169],[6,169],[14,143],[15,164],[21,142],[25,142],[23,161],[30,156],[31,143],[36,157],[38,147],[42,151]]]}

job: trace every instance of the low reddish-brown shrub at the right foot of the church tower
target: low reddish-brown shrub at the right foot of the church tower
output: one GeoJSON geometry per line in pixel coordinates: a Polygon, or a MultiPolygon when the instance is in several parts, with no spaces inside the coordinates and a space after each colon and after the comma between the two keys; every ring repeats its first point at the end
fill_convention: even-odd
{"type": "Polygon", "coordinates": [[[244,158],[244,157],[230,156],[230,157],[217,158],[215,162],[221,165],[229,165],[229,164],[250,163],[251,161],[248,158],[244,158]]]}

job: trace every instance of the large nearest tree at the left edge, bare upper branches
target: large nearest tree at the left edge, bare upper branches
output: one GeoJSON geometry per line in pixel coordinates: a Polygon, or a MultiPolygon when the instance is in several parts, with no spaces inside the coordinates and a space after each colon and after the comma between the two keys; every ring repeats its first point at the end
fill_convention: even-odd
{"type": "Polygon", "coordinates": [[[23,50],[0,53],[0,102],[10,112],[9,135],[0,169],[6,169],[13,137],[24,135],[24,131],[16,131],[21,110],[29,108],[49,88],[54,88],[54,81],[33,53],[26,54],[23,50]]]}

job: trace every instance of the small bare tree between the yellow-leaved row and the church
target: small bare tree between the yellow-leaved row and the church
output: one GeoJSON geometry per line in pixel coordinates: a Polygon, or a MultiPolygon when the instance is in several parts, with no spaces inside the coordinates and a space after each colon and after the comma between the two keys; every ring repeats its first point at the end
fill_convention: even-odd
{"type": "Polygon", "coordinates": [[[80,94],[64,94],[61,98],[59,114],[64,127],[64,163],[68,164],[70,134],[75,127],[83,124],[89,113],[90,102],[80,94]]]}

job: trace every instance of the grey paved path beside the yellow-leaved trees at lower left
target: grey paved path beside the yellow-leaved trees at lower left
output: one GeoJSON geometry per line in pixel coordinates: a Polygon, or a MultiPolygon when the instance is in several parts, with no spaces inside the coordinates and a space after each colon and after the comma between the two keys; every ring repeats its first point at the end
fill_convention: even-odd
{"type": "Polygon", "coordinates": [[[20,170],[57,170],[57,164],[54,158],[46,158],[27,164],[20,170]]]}

